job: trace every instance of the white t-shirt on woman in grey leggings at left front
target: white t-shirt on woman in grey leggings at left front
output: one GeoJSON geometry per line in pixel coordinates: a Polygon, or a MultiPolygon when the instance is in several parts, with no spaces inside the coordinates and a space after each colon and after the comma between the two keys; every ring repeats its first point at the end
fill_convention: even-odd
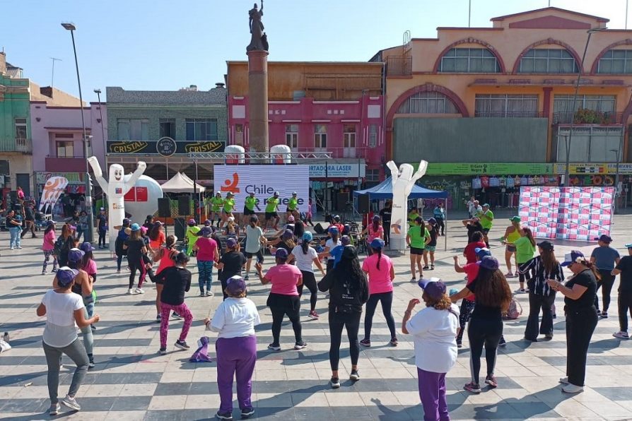
{"type": "Polygon", "coordinates": [[[64,348],[77,338],[74,311],[83,309],[81,295],[49,290],[42,298],[46,307],[46,326],[42,340],[54,348],[64,348]]]}

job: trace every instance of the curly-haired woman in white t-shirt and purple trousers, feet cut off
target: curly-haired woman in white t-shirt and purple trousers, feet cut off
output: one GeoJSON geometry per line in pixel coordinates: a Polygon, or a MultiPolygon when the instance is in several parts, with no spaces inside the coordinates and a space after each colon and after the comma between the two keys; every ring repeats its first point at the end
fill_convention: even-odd
{"type": "Polygon", "coordinates": [[[411,312],[419,300],[410,300],[404,312],[402,332],[411,334],[415,342],[423,419],[450,420],[445,398],[445,374],[457,361],[459,309],[445,294],[445,284],[438,278],[422,279],[419,286],[423,288],[421,300],[426,303],[426,308],[411,319],[411,312]]]}

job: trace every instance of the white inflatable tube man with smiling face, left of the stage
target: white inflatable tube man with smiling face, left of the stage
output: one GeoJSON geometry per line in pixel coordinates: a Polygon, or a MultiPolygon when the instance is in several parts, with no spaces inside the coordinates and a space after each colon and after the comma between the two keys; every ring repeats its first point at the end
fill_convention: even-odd
{"type": "Polygon", "coordinates": [[[107,194],[107,202],[109,203],[107,209],[107,226],[110,227],[110,251],[114,251],[115,239],[117,237],[115,227],[122,225],[123,219],[125,218],[124,196],[134,187],[134,184],[136,184],[141,175],[143,175],[147,164],[143,161],[139,161],[136,171],[134,171],[134,174],[131,174],[131,177],[129,177],[127,181],[125,180],[126,177],[124,177],[122,165],[112,164],[110,165],[110,180],[105,181],[103,171],[101,171],[101,166],[97,158],[90,157],[88,158],[88,162],[90,162],[90,167],[92,167],[95,179],[101,186],[101,189],[107,194]]]}

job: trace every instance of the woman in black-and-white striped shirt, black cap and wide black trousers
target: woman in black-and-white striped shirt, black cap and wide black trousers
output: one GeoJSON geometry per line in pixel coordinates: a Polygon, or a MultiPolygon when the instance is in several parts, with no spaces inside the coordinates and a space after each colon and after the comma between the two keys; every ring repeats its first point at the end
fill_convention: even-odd
{"type": "MultiPolygon", "coordinates": [[[[527,230],[528,228],[525,228],[527,230]]],[[[555,258],[554,245],[549,241],[537,244],[539,256],[535,256],[527,263],[520,265],[520,275],[532,272],[533,278],[527,281],[529,287],[529,319],[525,328],[525,340],[537,342],[538,319],[542,309],[542,323],[539,333],[546,339],[553,339],[553,305],[555,290],[546,282],[554,279],[561,283],[564,280],[562,266],[555,258]]]]}

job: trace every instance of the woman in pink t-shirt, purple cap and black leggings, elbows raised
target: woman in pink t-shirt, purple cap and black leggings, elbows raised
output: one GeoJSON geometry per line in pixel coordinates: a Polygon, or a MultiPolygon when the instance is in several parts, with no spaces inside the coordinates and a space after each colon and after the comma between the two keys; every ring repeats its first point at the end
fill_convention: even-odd
{"type": "Polygon", "coordinates": [[[257,262],[254,264],[261,283],[263,285],[272,284],[272,289],[266,302],[272,312],[272,343],[268,345],[268,349],[273,351],[281,350],[281,343],[279,343],[281,323],[283,323],[283,317],[287,314],[294,329],[296,340],[294,349],[301,350],[308,346],[301,336],[299,318],[300,297],[298,296],[297,286],[303,284],[303,274],[300,273],[300,269],[296,266],[288,265],[289,255],[286,249],[276,249],[274,256],[276,258],[276,266],[269,268],[265,276],[261,271],[261,263],[257,262]]]}

